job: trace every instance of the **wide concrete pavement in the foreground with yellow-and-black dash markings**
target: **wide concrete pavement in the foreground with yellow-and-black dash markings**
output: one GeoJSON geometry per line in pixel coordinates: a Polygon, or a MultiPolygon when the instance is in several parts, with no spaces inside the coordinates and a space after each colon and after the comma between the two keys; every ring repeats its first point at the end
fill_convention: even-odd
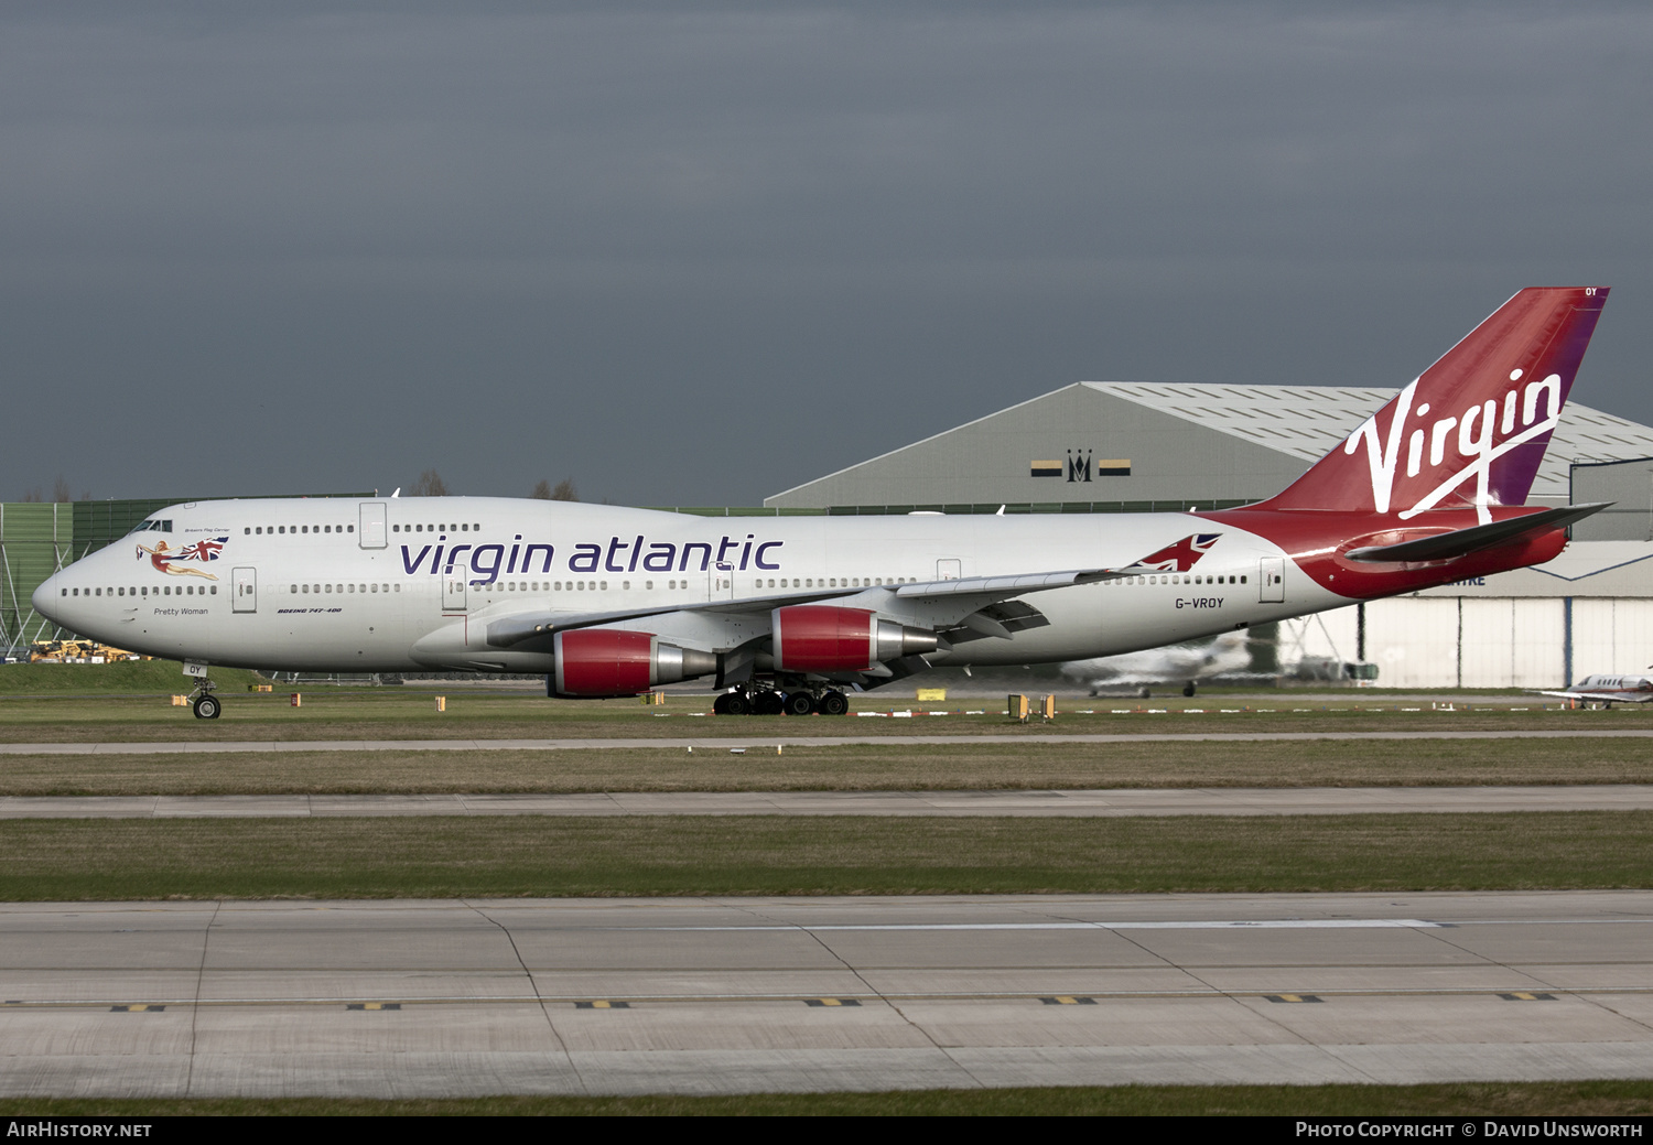
{"type": "Polygon", "coordinates": [[[1653,1077],[1653,892],[0,905],[0,1092],[1653,1077]]]}

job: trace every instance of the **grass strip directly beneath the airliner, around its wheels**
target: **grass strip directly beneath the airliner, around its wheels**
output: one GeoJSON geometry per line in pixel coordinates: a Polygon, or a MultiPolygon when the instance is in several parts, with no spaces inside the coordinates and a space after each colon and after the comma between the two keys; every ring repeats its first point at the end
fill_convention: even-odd
{"type": "MultiPolygon", "coordinates": [[[[159,663],[159,661],[155,661],[159,663]]],[[[18,666],[13,666],[18,668],[18,666]]],[[[43,668],[40,664],[30,668],[43,668]]],[[[53,666],[45,666],[53,668],[53,666]]],[[[112,669],[124,666],[116,664],[112,669]]],[[[136,668],[136,666],[134,666],[136,668]]],[[[10,668],[0,669],[0,679],[10,668]]],[[[86,671],[68,666],[64,671],[86,671]]],[[[1532,697],[1508,696],[1460,701],[1435,709],[1431,701],[1385,699],[1349,692],[1336,702],[1294,699],[1291,692],[1258,701],[1193,699],[1094,701],[1065,697],[1050,724],[1012,724],[1003,699],[965,699],[917,704],[911,692],[853,699],[856,712],[911,712],[904,717],[861,719],[810,715],[711,715],[711,696],[671,696],[665,707],[636,701],[552,701],[534,692],[501,694],[461,684],[433,687],[299,689],[302,706],[288,701],[293,689],[246,692],[220,689],[223,717],[197,720],[188,707],[172,707],[167,696],[187,692],[188,681],[167,676],[164,692],[38,694],[0,689],[0,742],[84,744],[112,740],[360,740],[360,739],[678,739],[693,735],[957,735],[1109,732],[1370,732],[1370,730],[1555,730],[1574,727],[1653,729],[1653,710],[1620,706],[1610,710],[1546,709],[1532,697]],[[436,712],[435,696],[446,694],[448,710],[436,712]],[[1417,710],[1408,710],[1417,709],[1417,710]],[[1522,710],[1524,709],[1524,710],[1522,710]],[[932,717],[931,710],[946,710],[932,717]],[[982,712],[970,715],[967,712],[982,712]]],[[[1653,707],[1653,706],[1648,706],[1653,707]]]]}

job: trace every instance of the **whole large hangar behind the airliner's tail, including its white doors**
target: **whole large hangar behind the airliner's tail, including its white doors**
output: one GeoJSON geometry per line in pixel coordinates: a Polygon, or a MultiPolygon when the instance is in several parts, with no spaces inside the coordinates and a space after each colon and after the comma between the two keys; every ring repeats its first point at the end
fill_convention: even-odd
{"type": "MultiPolygon", "coordinates": [[[[1261,501],[1397,392],[1081,382],[765,499],[772,512],[1175,512],[1261,501]]],[[[1559,687],[1653,666],[1653,430],[1570,401],[1529,497],[1613,501],[1557,560],[1279,625],[1283,666],[1559,687]]]]}

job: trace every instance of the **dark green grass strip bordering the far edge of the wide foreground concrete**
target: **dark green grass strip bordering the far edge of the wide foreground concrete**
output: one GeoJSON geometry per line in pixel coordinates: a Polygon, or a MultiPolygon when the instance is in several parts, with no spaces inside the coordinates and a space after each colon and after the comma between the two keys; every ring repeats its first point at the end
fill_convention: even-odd
{"type": "Polygon", "coordinates": [[[1527,891],[1653,886],[1653,811],[0,821],[0,899],[1527,891]]]}

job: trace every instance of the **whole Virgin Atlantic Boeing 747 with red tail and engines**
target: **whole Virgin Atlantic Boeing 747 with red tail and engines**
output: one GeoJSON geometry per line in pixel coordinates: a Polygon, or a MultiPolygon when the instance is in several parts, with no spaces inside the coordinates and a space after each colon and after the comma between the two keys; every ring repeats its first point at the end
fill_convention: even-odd
{"type": "Polygon", "coordinates": [[[1522,504],[1607,287],[1501,306],[1284,492],[1215,512],[691,517],[489,497],[172,506],[33,596],[208,666],[711,679],[724,714],[843,714],[932,666],[1207,639],[1554,558],[1603,506],[1522,504]]]}

